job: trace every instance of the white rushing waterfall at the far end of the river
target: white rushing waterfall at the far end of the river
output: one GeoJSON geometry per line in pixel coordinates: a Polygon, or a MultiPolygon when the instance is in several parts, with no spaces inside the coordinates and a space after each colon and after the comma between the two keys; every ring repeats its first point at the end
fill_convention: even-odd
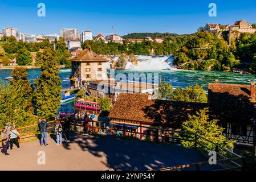
{"type": "Polygon", "coordinates": [[[135,71],[160,71],[173,67],[173,55],[136,55],[137,65],[128,61],[125,69],[135,71]]]}

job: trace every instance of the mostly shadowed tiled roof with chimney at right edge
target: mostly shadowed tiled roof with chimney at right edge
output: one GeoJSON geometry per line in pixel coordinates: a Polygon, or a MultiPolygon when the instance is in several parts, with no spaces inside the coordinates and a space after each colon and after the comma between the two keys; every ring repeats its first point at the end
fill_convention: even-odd
{"type": "Polygon", "coordinates": [[[209,84],[208,104],[212,119],[234,123],[251,123],[256,119],[250,85],[209,84]]]}

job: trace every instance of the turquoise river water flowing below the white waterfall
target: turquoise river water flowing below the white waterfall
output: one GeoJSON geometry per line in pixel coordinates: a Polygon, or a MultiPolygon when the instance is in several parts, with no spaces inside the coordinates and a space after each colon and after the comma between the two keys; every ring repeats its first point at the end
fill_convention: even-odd
{"type": "MultiPolygon", "coordinates": [[[[0,70],[0,78],[5,80],[5,77],[11,75],[11,69],[0,70]]],[[[28,78],[31,82],[35,78],[39,77],[40,69],[28,69],[28,78]]],[[[165,79],[166,82],[173,85],[174,88],[181,86],[184,88],[188,85],[201,85],[204,90],[208,91],[209,82],[214,82],[215,79],[220,80],[221,83],[229,84],[250,84],[250,82],[256,82],[256,77],[253,75],[242,75],[237,73],[227,73],[227,72],[208,72],[208,71],[184,71],[172,69],[170,71],[136,71],[136,70],[120,70],[117,73],[124,73],[128,75],[129,73],[158,73],[161,79],[165,79]]],[[[62,80],[62,88],[70,87],[70,77],[71,69],[61,68],[59,76],[62,80]]],[[[68,103],[66,105],[61,105],[59,111],[72,112],[74,104],[68,103]]]]}

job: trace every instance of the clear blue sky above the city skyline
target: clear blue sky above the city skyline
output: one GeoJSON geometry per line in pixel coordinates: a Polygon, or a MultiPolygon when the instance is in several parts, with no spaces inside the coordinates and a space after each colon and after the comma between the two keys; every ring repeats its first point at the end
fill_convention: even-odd
{"type": "Polygon", "coordinates": [[[0,30],[11,26],[25,34],[60,34],[61,28],[91,30],[93,35],[129,32],[190,34],[206,23],[233,24],[245,19],[256,23],[255,0],[0,0],[0,30]],[[38,17],[38,3],[46,17],[38,17]],[[208,16],[208,5],[217,5],[217,17],[208,16]]]}

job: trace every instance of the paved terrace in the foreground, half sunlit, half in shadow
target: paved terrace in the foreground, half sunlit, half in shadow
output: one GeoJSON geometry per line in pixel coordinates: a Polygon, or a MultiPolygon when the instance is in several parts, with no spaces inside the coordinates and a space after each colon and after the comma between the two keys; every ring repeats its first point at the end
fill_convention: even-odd
{"type": "Polygon", "coordinates": [[[133,139],[73,135],[60,146],[47,139],[48,146],[35,140],[1,154],[0,170],[148,170],[207,160],[196,150],[133,139]],[[37,163],[38,151],[45,152],[45,165],[37,163]]]}

